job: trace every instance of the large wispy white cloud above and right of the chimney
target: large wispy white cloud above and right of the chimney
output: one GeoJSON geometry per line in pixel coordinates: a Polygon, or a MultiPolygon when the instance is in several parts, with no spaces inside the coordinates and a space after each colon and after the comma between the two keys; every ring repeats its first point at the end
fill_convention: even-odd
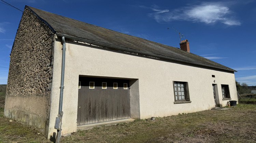
{"type": "Polygon", "coordinates": [[[185,6],[172,11],[152,8],[155,13],[149,14],[157,22],[193,21],[206,24],[221,22],[226,25],[241,25],[238,20],[232,19],[232,12],[224,4],[202,3],[200,5],[185,6]]]}

